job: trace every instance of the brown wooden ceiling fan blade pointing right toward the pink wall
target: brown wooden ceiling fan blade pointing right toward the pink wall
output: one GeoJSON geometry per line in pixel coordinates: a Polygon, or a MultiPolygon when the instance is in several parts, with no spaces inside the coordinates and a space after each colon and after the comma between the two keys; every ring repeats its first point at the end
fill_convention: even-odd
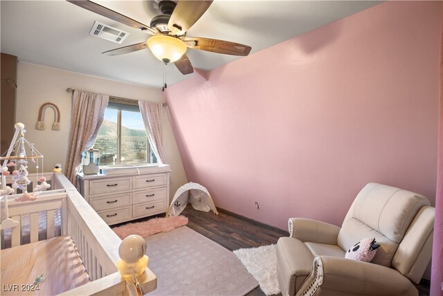
{"type": "Polygon", "coordinates": [[[186,37],[183,39],[183,42],[185,42],[186,46],[191,49],[199,49],[201,51],[210,51],[213,53],[224,53],[226,55],[246,56],[251,52],[251,46],[225,40],[186,37]]]}

